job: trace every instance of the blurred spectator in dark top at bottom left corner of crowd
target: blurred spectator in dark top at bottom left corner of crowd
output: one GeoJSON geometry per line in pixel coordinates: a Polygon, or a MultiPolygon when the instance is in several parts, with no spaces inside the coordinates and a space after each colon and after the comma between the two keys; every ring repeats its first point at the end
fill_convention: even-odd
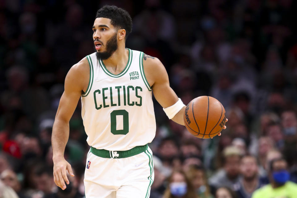
{"type": "Polygon", "coordinates": [[[4,170],[0,174],[0,179],[6,186],[11,187],[18,194],[19,198],[28,198],[23,195],[23,192],[21,192],[22,186],[13,170],[4,170]]]}

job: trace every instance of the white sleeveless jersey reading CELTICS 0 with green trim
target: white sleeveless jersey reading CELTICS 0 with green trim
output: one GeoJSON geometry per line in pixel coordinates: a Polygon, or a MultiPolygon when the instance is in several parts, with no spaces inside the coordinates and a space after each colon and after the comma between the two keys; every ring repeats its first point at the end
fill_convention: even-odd
{"type": "Polygon", "coordinates": [[[143,70],[143,52],[129,50],[125,69],[110,73],[96,53],[87,56],[90,80],[81,96],[87,142],[96,149],[129,150],[156,134],[152,90],[143,70]]]}

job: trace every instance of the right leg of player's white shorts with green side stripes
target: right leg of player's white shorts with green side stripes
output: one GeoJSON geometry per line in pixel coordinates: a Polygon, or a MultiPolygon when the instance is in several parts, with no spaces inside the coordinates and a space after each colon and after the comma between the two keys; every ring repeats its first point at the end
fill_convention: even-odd
{"type": "Polygon", "coordinates": [[[149,198],[154,180],[153,154],[150,148],[125,159],[125,182],[118,188],[116,198],[149,198]]]}

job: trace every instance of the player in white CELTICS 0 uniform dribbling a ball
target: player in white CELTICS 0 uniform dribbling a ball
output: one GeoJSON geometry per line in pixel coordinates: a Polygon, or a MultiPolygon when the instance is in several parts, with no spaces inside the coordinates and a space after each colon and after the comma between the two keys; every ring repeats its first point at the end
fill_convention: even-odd
{"type": "MultiPolygon", "coordinates": [[[[96,52],[69,70],[53,134],[54,181],[66,189],[64,159],[69,120],[81,98],[87,142],[86,198],[148,198],[154,179],[152,151],[156,131],[152,92],[174,122],[184,125],[185,105],[169,86],[162,63],[125,48],[132,20],[127,11],[104,6],[93,24],[96,52]]],[[[224,127],[226,128],[226,127],[224,127]]]]}

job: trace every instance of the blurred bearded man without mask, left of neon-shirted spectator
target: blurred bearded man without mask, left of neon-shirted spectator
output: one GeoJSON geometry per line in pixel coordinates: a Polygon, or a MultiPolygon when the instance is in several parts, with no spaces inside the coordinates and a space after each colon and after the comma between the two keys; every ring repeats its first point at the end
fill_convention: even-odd
{"type": "Polygon", "coordinates": [[[240,162],[240,173],[240,187],[236,191],[237,196],[238,198],[251,198],[252,193],[261,187],[256,157],[243,156],[240,162]]]}

